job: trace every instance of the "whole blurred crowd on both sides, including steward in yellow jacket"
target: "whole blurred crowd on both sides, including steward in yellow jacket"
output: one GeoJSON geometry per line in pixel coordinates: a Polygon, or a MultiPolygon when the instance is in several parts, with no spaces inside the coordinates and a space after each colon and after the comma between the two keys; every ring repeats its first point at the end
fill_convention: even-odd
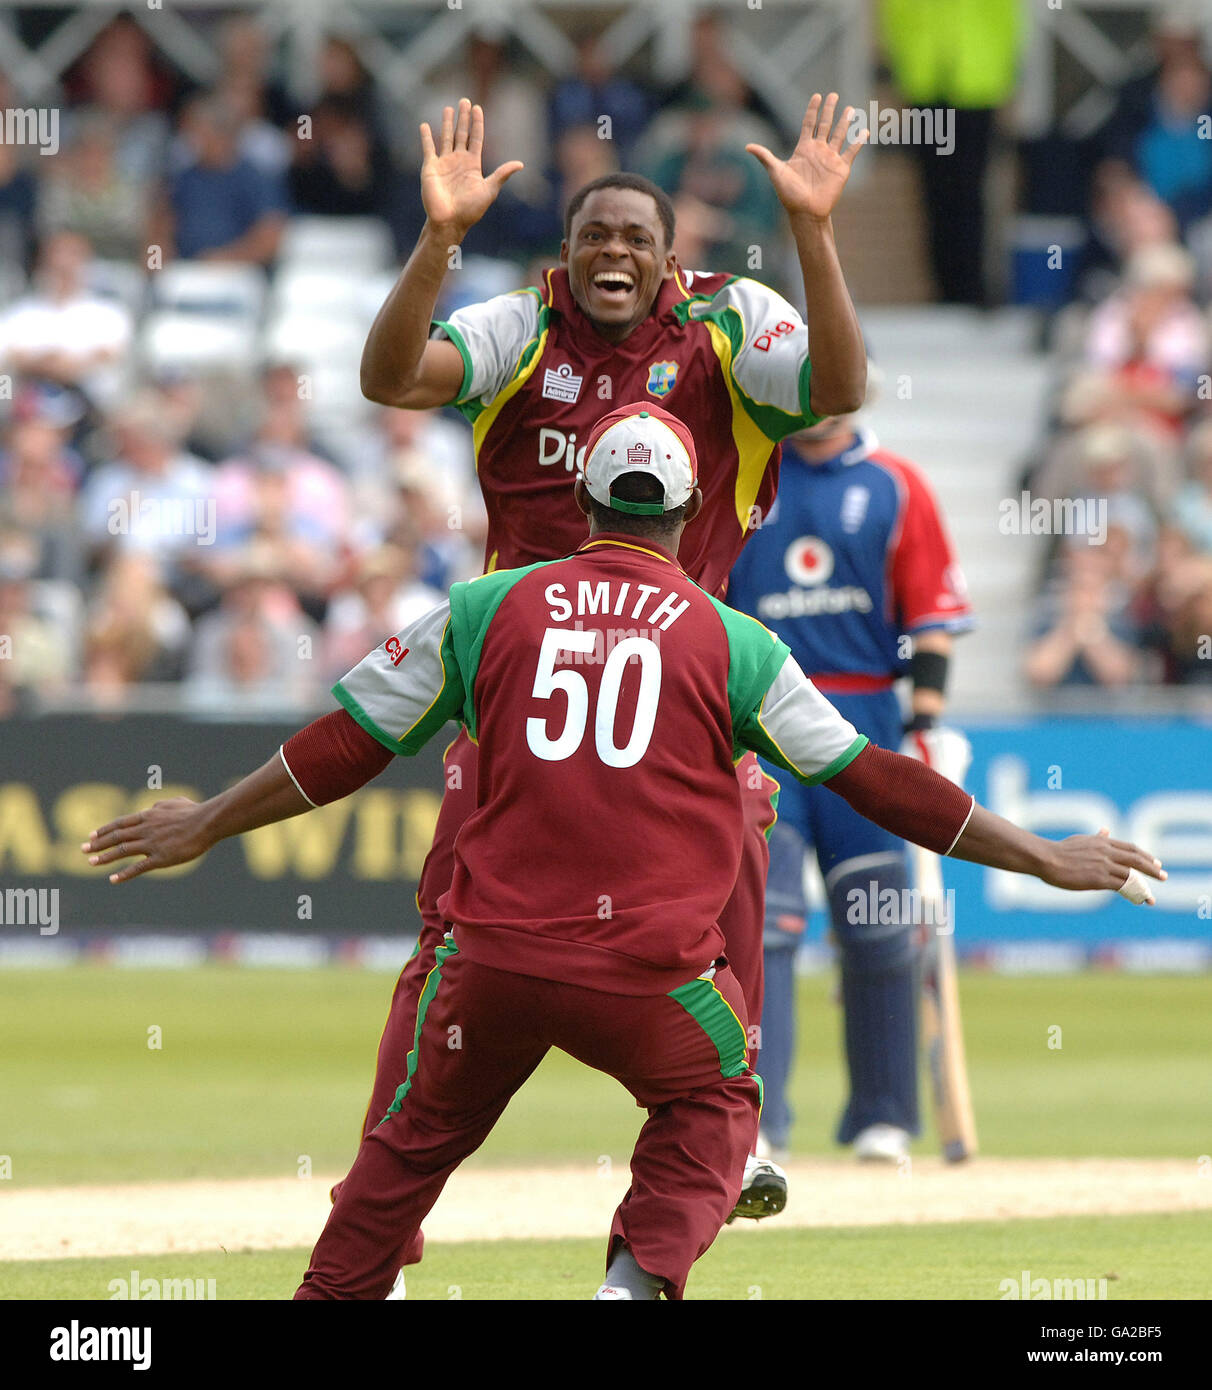
{"type": "MultiPolygon", "coordinates": [[[[878,15],[892,90],[956,114],[958,153],[916,152],[928,254],[941,299],[983,304],[981,189],[1019,8],[990,0],[959,25],[933,0],[881,0],[878,15]]],[[[574,61],[555,79],[491,21],[468,24],[402,103],[338,33],[300,90],[259,17],[217,17],[220,75],[199,88],[120,15],[64,74],[56,152],[0,140],[0,716],[39,695],[121,705],[145,684],[203,712],[314,703],[478,573],[468,428],[374,410],[356,386],[366,316],[424,217],[417,124],[445,103],[485,107],[485,167],[525,170],[471,231],[439,311],[534,282],[568,193],[620,167],[670,190],[682,264],[744,272],[756,245],[762,278],[798,297],[785,220],[745,153],[796,131],[738,71],[727,17],[688,26],[675,88],[644,58],[613,70],[599,32],[570,31],[574,61]],[[304,224],[357,220],[382,232],[366,275],[320,264],[334,259],[322,243],[290,260],[304,224]],[[225,373],[181,366],[197,320],[152,334],[157,293],[190,267],[236,277],[231,293],[253,306],[256,350],[225,373]]],[[[21,106],[0,76],[0,108],[21,106]]],[[[1116,93],[1090,164],[1087,246],[1024,486],[1101,503],[1105,528],[1054,535],[1024,676],[1206,681],[1212,74],[1190,22],[1158,25],[1152,68],[1116,93]]]]}

